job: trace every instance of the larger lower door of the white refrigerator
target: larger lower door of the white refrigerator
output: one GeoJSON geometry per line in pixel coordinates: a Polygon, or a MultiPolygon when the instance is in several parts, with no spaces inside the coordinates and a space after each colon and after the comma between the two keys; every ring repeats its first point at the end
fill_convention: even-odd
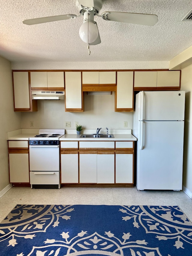
{"type": "Polygon", "coordinates": [[[139,190],[182,189],[183,132],[183,121],[143,122],[143,145],[142,134],[137,144],[139,190]]]}

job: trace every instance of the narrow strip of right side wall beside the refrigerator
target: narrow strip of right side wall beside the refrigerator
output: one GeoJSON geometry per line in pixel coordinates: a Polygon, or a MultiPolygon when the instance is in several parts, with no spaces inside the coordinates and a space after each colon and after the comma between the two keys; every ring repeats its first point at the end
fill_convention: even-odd
{"type": "Polygon", "coordinates": [[[181,90],[186,92],[183,185],[192,194],[192,66],[182,70],[181,90]]]}

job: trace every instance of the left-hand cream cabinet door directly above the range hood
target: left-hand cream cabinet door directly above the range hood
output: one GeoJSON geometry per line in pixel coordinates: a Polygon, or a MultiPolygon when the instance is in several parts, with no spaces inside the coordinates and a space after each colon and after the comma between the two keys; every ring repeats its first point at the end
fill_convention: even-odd
{"type": "Polygon", "coordinates": [[[31,88],[44,87],[47,88],[47,72],[30,72],[31,88]]]}

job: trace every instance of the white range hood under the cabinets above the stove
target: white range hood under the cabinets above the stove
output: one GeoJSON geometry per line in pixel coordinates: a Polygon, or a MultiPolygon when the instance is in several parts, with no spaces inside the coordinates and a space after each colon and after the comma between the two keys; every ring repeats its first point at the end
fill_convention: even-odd
{"type": "Polygon", "coordinates": [[[64,92],[32,91],[32,100],[64,100],[64,92]]]}

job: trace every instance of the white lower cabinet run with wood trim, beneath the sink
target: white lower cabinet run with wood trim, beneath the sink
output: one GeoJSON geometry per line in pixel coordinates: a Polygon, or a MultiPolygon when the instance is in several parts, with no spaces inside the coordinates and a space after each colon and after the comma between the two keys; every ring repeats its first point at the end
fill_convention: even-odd
{"type": "Polygon", "coordinates": [[[133,158],[133,141],[62,141],[61,183],[133,186],[133,158]]]}

